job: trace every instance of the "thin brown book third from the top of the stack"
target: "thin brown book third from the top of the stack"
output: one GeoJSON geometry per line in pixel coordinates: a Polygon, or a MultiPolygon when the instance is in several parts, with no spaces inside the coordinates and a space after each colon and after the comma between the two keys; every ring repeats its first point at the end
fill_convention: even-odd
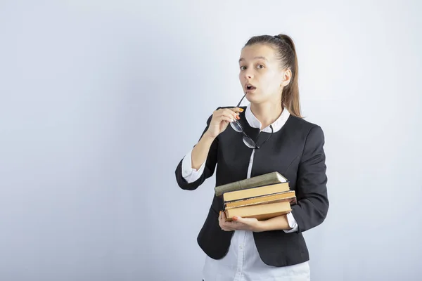
{"type": "Polygon", "coordinates": [[[283,202],[283,201],[290,202],[290,205],[296,204],[295,190],[279,192],[272,195],[262,195],[258,197],[248,198],[245,200],[234,200],[231,202],[225,202],[224,208],[231,209],[231,208],[244,207],[244,206],[255,205],[255,204],[268,204],[268,203],[283,202]]]}

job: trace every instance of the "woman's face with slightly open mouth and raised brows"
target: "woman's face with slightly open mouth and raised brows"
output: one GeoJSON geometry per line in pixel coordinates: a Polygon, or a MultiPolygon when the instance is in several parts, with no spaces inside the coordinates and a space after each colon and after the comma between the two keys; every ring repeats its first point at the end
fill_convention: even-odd
{"type": "Polygon", "coordinates": [[[239,60],[239,79],[250,103],[280,99],[288,72],[280,67],[274,48],[263,44],[245,46],[239,60]]]}

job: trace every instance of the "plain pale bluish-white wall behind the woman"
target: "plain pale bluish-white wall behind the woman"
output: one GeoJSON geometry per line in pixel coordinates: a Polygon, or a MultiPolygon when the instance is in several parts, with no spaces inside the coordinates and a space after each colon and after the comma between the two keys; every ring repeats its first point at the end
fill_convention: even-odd
{"type": "Polygon", "coordinates": [[[174,169],[236,105],[256,34],[298,51],[326,136],[312,280],[420,280],[418,1],[1,1],[0,280],[201,280],[215,178],[174,169]]]}

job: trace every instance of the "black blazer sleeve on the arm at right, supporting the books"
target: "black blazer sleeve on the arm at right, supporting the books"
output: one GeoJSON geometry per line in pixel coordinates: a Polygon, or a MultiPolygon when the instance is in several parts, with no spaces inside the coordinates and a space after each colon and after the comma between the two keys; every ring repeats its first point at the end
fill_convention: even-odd
{"type": "Polygon", "coordinates": [[[313,126],[307,135],[298,169],[296,183],[298,203],[292,206],[292,214],[298,223],[298,232],[318,226],[328,213],[325,160],[324,132],[320,126],[313,126]]]}

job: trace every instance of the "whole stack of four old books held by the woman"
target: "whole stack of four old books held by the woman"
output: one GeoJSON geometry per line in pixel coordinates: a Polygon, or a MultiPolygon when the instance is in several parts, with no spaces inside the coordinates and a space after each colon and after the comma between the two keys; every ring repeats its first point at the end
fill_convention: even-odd
{"type": "Polygon", "coordinates": [[[290,190],[288,179],[278,172],[219,185],[215,195],[222,196],[227,221],[234,216],[263,221],[288,214],[296,204],[295,190],[290,190]]]}

